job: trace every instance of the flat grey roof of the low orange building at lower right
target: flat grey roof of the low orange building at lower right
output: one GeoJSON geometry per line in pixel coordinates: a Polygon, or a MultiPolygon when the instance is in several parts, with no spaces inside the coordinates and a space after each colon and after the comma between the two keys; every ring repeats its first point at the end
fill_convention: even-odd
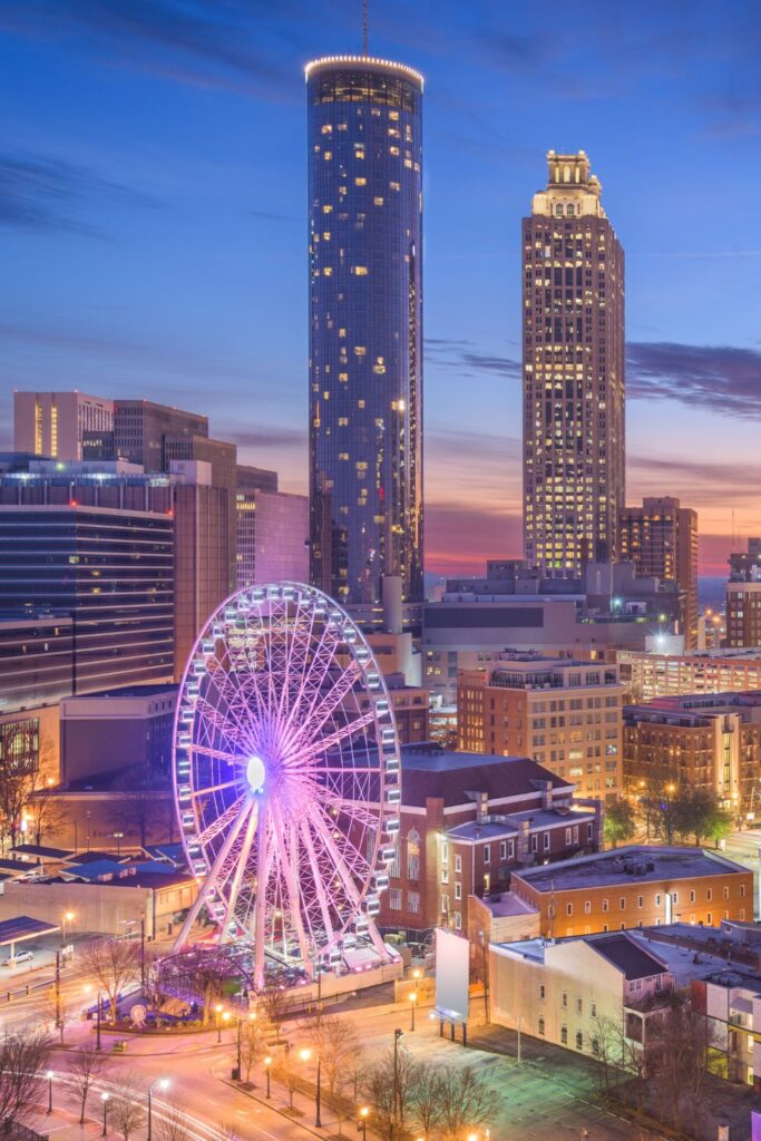
{"type": "Polygon", "coordinates": [[[512,873],[536,891],[574,891],[624,883],[653,883],[659,880],[693,880],[709,875],[751,873],[719,852],[703,848],[663,848],[630,844],[593,856],[519,868],[512,873]],[[635,866],[632,874],[628,867],[635,866]]]}

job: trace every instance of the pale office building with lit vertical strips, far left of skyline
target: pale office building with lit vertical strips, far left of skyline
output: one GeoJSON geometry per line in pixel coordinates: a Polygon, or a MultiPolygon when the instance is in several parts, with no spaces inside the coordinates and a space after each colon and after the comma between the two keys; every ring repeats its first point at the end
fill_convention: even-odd
{"type": "Polygon", "coordinates": [[[54,460],[83,459],[90,432],[111,432],[114,402],[87,393],[14,393],[14,450],[54,460]]]}

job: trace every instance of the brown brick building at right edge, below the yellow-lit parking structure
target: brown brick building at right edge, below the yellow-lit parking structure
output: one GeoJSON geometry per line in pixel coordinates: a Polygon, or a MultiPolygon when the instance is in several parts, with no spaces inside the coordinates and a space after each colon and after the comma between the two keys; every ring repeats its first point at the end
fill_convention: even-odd
{"type": "Polygon", "coordinates": [[[623,710],[624,783],[704,788],[736,818],[761,811],[761,694],[659,697],[623,710]]]}

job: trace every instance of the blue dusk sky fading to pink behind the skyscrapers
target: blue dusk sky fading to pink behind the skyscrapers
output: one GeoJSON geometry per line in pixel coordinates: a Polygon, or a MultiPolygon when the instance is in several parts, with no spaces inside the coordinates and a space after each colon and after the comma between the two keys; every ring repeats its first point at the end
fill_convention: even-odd
{"type": "MultiPolygon", "coordinates": [[[[586,151],[626,254],[626,500],[761,534],[761,6],[369,0],[426,76],[426,563],[520,553],[520,219],[586,151]]],[[[14,388],[208,413],[307,487],[303,64],[358,0],[0,0],[0,450],[14,388]]]]}

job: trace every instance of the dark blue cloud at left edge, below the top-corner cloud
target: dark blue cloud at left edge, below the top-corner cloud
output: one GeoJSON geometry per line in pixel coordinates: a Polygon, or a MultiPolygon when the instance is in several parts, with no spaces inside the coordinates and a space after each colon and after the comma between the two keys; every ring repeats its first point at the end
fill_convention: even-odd
{"type": "Polygon", "coordinates": [[[0,153],[0,225],[103,236],[78,218],[98,209],[156,207],[151,195],[54,155],[0,153]]]}

